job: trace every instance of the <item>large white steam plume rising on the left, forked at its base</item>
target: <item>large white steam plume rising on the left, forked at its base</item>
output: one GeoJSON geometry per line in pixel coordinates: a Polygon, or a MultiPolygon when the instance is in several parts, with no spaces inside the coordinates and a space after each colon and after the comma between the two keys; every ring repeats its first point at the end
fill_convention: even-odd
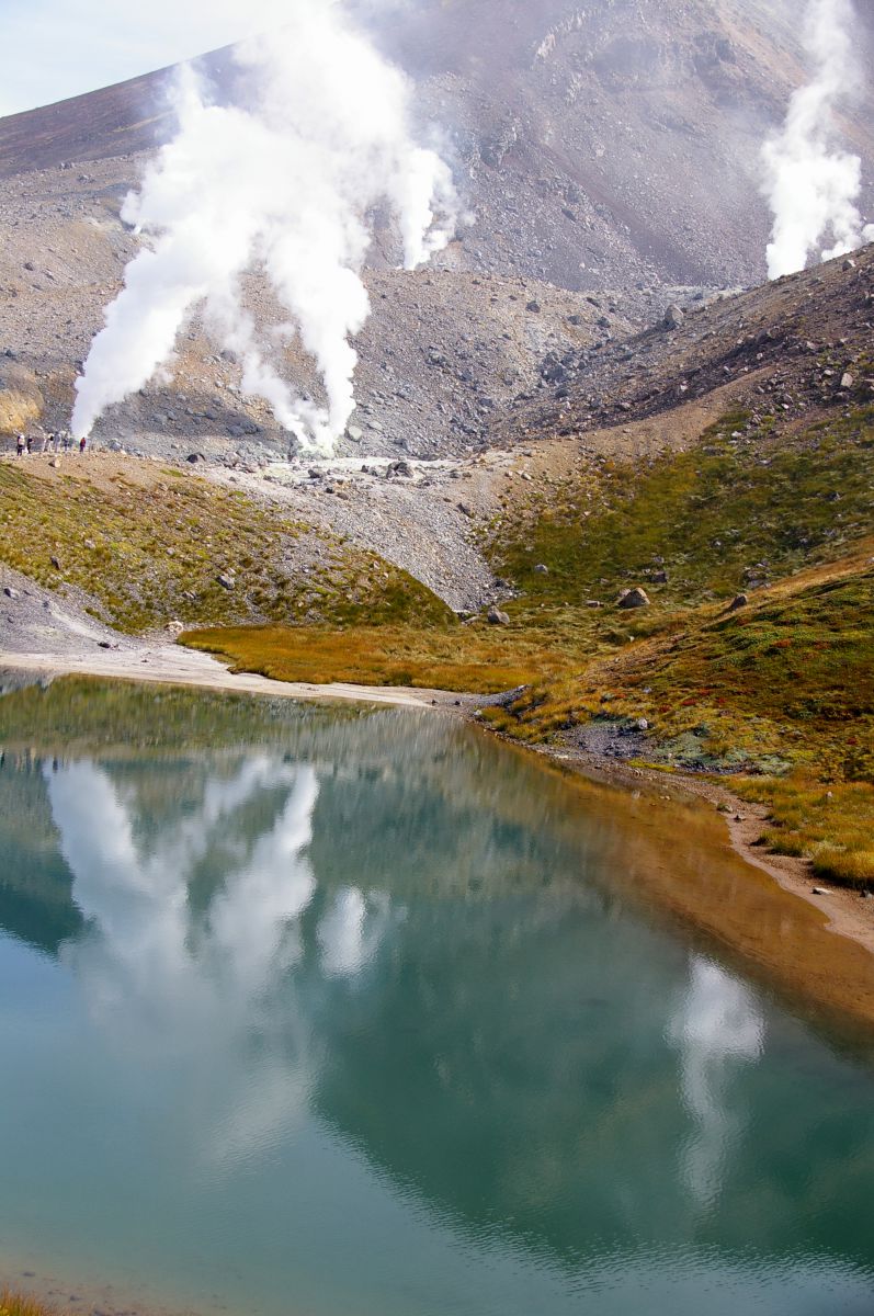
{"type": "Polygon", "coordinates": [[[178,136],[125,201],[125,222],[153,242],[129,265],[76,382],[76,437],[155,376],[199,312],[238,355],[244,392],[267,399],[305,447],[330,450],[354,409],[349,340],[370,313],[359,271],[374,208],[391,209],[407,268],[451,238],[450,171],[415,141],[407,79],[341,0],[291,0],[284,26],[238,47],[236,61],[245,107],[212,104],[183,70],[178,136]],[[288,316],[266,333],[244,303],[257,270],[288,316]],[[324,408],[282,378],[295,334],[321,374],[324,408]]]}

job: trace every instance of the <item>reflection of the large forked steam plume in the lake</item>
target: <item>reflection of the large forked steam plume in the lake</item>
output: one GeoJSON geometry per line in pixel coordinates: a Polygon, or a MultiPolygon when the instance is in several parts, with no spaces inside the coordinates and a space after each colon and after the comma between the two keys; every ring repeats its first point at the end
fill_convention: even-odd
{"type": "MultiPolygon", "coordinates": [[[[316,1076],[316,1046],[290,979],[316,896],[307,853],[315,770],[247,759],[230,778],[211,778],[193,813],[163,825],[149,846],[137,832],[136,790],[124,791],[93,763],[45,775],[74,899],[88,921],[87,936],[62,953],[92,1015],[116,1045],[182,1067],[212,1163],[257,1154],[297,1119],[316,1076]],[[262,834],[234,830],[238,811],[278,790],[284,799],[262,834]],[[230,871],[207,913],[196,915],[196,866],[217,838],[228,854],[228,833],[230,871]]],[[[340,892],[316,929],[322,974],[357,974],[384,917],[379,899],[340,892]]]]}

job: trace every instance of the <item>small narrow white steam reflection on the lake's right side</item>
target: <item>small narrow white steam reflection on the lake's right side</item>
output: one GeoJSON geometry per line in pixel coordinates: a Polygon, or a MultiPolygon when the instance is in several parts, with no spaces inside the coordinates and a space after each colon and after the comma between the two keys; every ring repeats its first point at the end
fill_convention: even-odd
{"type": "Polygon", "coordinates": [[[737,1103],[732,1105],[731,1080],[741,1065],[761,1057],[765,1023],[742,983],[694,957],[670,1036],[682,1055],[683,1103],[696,1125],[683,1153],[683,1179],[696,1202],[712,1205],[745,1124],[737,1103]]]}

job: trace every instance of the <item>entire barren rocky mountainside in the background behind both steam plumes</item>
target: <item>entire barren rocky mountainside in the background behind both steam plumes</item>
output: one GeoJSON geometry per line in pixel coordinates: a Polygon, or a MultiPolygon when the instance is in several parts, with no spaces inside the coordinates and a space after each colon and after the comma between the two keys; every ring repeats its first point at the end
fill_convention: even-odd
{"type": "MultiPolygon", "coordinates": [[[[357,347],[358,413],[341,451],[459,457],[571,363],[621,367],[617,342],[758,283],[769,216],[758,153],[806,78],[790,0],[416,0],[379,34],[445,130],[476,221],[415,275],[382,234],[357,347]]],[[[858,7],[857,45],[874,49],[858,7]]],[[[226,51],[205,57],[229,91],[226,51]]],[[[118,218],[172,130],[167,74],[0,120],[0,384],[11,415],[66,422],[72,382],[140,238],[118,218]],[[4,355],[5,354],[5,355],[4,355]]],[[[844,120],[874,208],[871,88],[844,120]]],[[[254,308],[266,304],[253,280],[254,308]]],[[[309,362],[288,376],[319,395],[309,362]]],[[[609,387],[621,378],[613,372],[609,387]]],[[[596,392],[595,386],[592,390],[596,392]]],[[[590,391],[592,391],[590,390],[590,391]]],[[[559,399],[561,401],[561,399],[559,399]]],[[[103,443],[263,461],[286,441],[193,324],[174,378],[99,426],[103,443]]]]}

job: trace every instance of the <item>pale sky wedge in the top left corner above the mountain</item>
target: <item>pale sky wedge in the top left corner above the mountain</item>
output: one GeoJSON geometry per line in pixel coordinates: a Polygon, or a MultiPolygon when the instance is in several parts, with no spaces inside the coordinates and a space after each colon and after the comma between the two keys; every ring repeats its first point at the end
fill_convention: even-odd
{"type": "Polygon", "coordinates": [[[0,0],[0,116],[228,45],[282,22],[295,3],[0,0]]]}

